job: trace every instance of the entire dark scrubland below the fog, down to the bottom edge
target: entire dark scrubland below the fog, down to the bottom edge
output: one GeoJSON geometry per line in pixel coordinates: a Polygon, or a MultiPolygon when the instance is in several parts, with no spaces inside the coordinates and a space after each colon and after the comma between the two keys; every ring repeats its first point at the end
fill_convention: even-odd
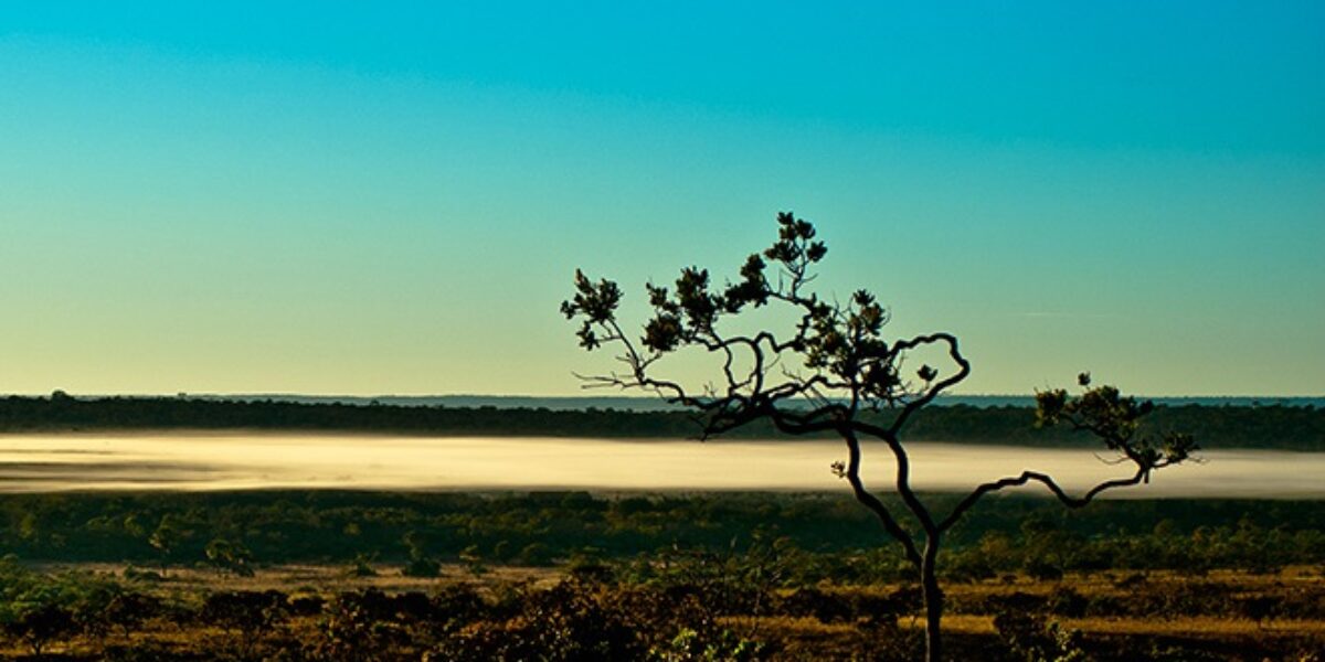
{"type": "MultiPolygon", "coordinates": [[[[942,498],[942,496],[939,496],[942,498]]],[[[0,628],[45,659],[914,659],[845,495],[0,500],[0,628]]],[[[1004,498],[954,531],[958,659],[1320,659],[1318,503],[1004,498]],[[978,526],[977,526],[978,524],[978,526]]]]}

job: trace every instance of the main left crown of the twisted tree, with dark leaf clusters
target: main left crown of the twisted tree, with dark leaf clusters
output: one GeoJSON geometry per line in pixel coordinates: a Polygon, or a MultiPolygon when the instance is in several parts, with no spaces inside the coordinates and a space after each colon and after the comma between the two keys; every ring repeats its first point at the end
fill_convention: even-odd
{"type": "Polygon", "coordinates": [[[689,266],[670,285],[648,283],[652,315],[636,339],[617,320],[617,283],[575,274],[575,295],[562,302],[562,314],[579,320],[576,335],[586,350],[616,343],[628,365],[624,373],[591,377],[596,385],[657,391],[672,401],[700,408],[706,433],[725,432],[772,410],[776,401],[808,401],[819,408],[819,422],[849,420],[859,406],[896,405],[933,397],[965,377],[967,367],[947,335],[889,340],[884,327],[890,312],[868,290],[845,302],[808,291],[812,269],[828,249],[810,221],[790,212],[778,214],[778,238],[751,253],[734,281],[716,283],[708,269],[689,266]],[[765,306],[791,312],[790,332],[762,330],[754,335],[725,331],[726,318],[765,306]],[[947,343],[958,371],[938,381],[939,372],[924,365],[921,384],[901,376],[905,354],[925,344],[947,343]],[[721,357],[725,380],[697,389],[660,380],[649,367],[662,356],[697,347],[721,357]],[[845,402],[845,408],[839,406],[845,402]]]}

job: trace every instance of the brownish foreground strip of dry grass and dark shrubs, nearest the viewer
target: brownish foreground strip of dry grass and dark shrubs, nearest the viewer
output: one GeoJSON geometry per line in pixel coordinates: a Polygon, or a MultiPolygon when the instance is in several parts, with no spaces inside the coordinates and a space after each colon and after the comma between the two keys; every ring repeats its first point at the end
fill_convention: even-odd
{"type": "MultiPolygon", "coordinates": [[[[799,584],[776,555],[674,552],[541,575],[447,568],[392,585],[333,569],[163,580],[0,563],[0,655],[19,659],[909,661],[918,588],[799,584]]],[[[396,577],[394,580],[392,577],[396,577]]],[[[1325,577],[1010,575],[950,588],[961,659],[1318,661],[1325,577]]]]}

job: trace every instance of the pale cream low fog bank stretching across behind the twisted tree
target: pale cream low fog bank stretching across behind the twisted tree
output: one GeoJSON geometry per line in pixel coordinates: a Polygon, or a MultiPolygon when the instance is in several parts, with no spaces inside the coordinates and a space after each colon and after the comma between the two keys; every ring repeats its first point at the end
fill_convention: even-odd
{"type": "MultiPolygon", "coordinates": [[[[1129,475],[1105,451],[913,444],[920,490],[1047,471],[1071,490],[1129,475]]],[[[893,482],[882,445],[867,483],[893,482]]],[[[0,436],[0,491],[68,490],[844,490],[833,441],[619,441],[538,437],[123,433],[0,436]]],[[[1211,450],[1120,498],[1325,498],[1325,453],[1211,450]]],[[[1022,489],[1036,493],[1035,487],[1022,489]]]]}

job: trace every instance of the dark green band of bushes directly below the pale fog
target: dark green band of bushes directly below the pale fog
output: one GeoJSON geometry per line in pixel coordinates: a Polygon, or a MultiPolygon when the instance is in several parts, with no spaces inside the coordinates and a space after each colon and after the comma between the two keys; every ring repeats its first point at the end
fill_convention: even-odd
{"type": "MultiPolygon", "coordinates": [[[[892,496],[885,496],[889,502],[892,496]]],[[[955,495],[933,495],[951,506],[955,495]]],[[[1325,560],[1325,508],[1293,500],[1104,500],[1067,511],[1004,496],[954,527],[943,572],[1271,572],[1325,560]]],[[[901,553],[836,494],[89,493],[0,499],[0,549],[30,563],[129,563],[166,573],[225,563],[356,559],[555,567],[780,540],[804,581],[892,581],[901,553]]]]}

